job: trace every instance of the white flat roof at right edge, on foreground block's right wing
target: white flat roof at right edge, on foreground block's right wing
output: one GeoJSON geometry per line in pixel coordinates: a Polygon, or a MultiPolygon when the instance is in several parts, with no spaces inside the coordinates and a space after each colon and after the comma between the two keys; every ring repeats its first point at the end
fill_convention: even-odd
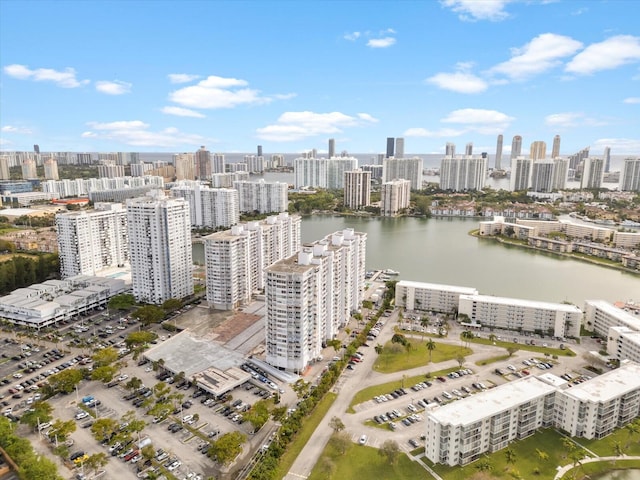
{"type": "Polygon", "coordinates": [[[622,361],[620,368],[565,390],[564,394],[580,401],[607,402],[639,388],[640,365],[622,361]]]}

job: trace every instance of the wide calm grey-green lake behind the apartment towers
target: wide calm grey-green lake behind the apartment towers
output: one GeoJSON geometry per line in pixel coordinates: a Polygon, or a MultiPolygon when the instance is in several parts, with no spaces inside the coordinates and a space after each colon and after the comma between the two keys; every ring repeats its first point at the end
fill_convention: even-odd
{"type": "MultiPolygon", "coordinates": [[[[640,301],[640,276],[470,236],[477,226],[471,219],[314,215],[302,220],[302,241],[354,228],[367,233],[367,269],[391,268],[398,279],[581,308],[588,299],[640,301]]],[[[203,246],[196,244],[194,262],[203,261],[203,246]]]]}

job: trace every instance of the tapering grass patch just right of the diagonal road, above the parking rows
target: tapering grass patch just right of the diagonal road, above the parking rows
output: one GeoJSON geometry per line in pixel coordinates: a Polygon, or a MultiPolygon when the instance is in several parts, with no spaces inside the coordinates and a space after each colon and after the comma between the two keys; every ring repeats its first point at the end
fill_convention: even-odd
{"type": "MultiPolygon", "coordinates": [[[[449,345],[446,343],[437,343],[435,350],[431,352],[432,363],[440,363],[447,360],[455,360],[462,355],[466,357],[473,353],[470,348],[462,347],[459,345],[449,345]]],[[[382,353],[378,355],[375,363],[373,364],[373,370],[381,373],[393,373],[400,372],[402,370],[408,370],[411,368],[422,367],[428,365],[429,362],[429,350],[424,343],[413,344],[411,350],[408,352],[403,349],[397,353],[392,351],[390,341],[384,345],[382,353]]]]}

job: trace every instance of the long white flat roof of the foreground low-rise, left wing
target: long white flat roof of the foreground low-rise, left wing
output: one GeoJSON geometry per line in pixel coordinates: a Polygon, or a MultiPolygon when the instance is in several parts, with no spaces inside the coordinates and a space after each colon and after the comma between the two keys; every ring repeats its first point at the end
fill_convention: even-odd
{"type": "Polygon", "coordinates": [[[537,377],[525,377],[433,410],[440,424],[469,425],[556,391],[537,377]]]}

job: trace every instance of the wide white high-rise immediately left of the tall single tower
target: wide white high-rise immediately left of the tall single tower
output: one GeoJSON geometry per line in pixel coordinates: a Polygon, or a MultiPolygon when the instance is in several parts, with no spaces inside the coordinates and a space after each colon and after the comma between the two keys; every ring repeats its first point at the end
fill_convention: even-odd
{"type": "Polygon", "coordinates": [[[62,278],[99,275],[129,262],[127,212],[120,203],[96,203],[92,211],[56,215],[62,278]]]}

